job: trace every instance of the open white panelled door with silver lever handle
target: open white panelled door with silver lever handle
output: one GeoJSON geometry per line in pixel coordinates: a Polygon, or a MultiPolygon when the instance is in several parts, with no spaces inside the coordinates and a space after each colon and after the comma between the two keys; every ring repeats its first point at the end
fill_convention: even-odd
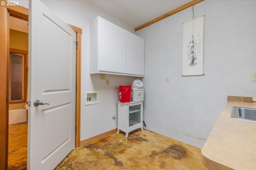
{"type": "Polygon", "coordinates": [[[28,170],[51,170],[75,147],[76,33],[38,0],[29,11],[28,170]]]}

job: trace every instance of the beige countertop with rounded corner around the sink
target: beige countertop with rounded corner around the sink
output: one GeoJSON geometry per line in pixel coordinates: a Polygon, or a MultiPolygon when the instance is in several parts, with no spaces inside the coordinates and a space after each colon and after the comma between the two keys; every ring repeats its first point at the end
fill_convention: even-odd
{"type": "Polygon", "coordinates": [[[232,106],[256,108],[227,102],[201,150],[202,162],[210,170],[256,170],[256,122],[231,118],[232,106]]]}

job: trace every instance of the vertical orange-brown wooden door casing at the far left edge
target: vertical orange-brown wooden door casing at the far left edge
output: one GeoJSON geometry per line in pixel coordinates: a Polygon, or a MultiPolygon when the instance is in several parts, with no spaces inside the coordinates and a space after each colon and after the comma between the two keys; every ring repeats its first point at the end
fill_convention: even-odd
{"type": "Polygon", "coordinates": [[[0,6],[0,169],[6,170],[8,166],[8,11],[0,6]]]}

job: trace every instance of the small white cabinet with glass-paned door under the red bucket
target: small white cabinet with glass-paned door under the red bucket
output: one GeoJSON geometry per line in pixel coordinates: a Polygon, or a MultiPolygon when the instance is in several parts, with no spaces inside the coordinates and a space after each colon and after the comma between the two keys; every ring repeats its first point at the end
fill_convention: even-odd
{"type": "Polygon", "coordinates": [[[129,132],[139,129],[143,131],[143,101],[122,103],[118,102],[118,130],[128,137],[129,132]]]}

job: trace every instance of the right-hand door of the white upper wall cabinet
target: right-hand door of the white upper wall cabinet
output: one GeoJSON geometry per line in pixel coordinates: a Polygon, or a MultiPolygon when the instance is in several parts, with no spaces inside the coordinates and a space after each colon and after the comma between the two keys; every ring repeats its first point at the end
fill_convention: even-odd
{"type": "Polygon", "coordinates": [[[144,39],[127,32],[127,73],[144,75],[144,39]]]}

